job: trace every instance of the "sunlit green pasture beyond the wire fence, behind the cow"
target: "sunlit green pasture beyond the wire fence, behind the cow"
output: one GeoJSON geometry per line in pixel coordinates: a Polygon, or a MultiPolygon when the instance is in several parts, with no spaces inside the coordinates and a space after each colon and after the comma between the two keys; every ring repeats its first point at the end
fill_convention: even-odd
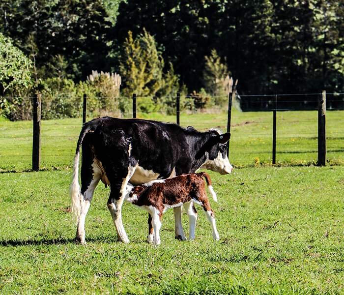
{"type": "MultiPolygon", "coordinates": [[[[138,118],[175,122],[175,116],[141,114],[138,118]]],[[[91,118],[87,118],[91,119],[91,118]]],[[[227,112],[180,115],[182,126],[199,130],[227,128],[227,112]]],[[[329,164],[344,164],[344,112],[327,111],[329,164]]],[[[41,168],[69,167],[81,130],[81,118],[43,120],[41,123],[41,168]]],[[[32,122],[0,121],[0,170],[25,171],[31,167],[32,122]]],[[[309,165],[317,160],[317,112],[277,113],[278,165],[309,165]]],[[[237,167],[268,165],[272,162],[272,112],[232,112],[230,162],[237,167]]]]}

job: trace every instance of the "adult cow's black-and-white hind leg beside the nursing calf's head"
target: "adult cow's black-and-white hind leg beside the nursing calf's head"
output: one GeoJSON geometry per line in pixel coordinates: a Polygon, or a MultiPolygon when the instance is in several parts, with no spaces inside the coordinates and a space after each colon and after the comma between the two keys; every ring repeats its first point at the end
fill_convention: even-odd
{"type": "Polygon", "coordinates": [[[129,238],[124,230],[122,223],[122,205],[126,193],[126,187],[128,185],[130,177],[133,176],[134,172],[135,167],[129,165],[128,174],[124,178],[122,178],[121,181],[114,179],[110,180],[111,191],[108,200],[108,208],[110,210],[117,231],[117,240],[124,243],[129,243],[129,238]]]}

